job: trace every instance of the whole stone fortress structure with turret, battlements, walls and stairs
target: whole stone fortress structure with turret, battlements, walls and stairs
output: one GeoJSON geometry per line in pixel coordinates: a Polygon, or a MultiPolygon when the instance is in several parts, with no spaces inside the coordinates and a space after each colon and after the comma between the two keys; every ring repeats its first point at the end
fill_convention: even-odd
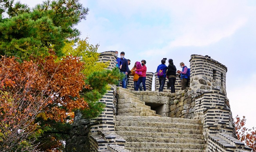
{"type": "MultiPolygon", "coordinates": [[[[99,60],[115,67],[114,51],[101,53],[99,60]]],[[[88,122],[76,115],[67,151],[249,152],[236,140],[227,67],[202,55],[191,55],[189,61],[190,85],[180,90],[177,78],[176,93],[166,87],[164,92],[150,91],[153,72],[147,73],[147,91],[134,91],[132,76],[128,89],[112,86],[99,101],[106,105],[99,117],[88,122]]]]}

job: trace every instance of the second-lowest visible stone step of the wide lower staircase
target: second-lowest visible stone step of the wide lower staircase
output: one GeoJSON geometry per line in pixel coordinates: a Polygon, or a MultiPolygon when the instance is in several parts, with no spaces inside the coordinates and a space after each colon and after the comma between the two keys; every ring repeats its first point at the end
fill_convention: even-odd
{"type": "Polygon", "coordinates": [[[125,142],[125,148],[180,148],[180,149],[205,149],[205,144],[191,143],[147,143],[147,142],[125,142]]]}

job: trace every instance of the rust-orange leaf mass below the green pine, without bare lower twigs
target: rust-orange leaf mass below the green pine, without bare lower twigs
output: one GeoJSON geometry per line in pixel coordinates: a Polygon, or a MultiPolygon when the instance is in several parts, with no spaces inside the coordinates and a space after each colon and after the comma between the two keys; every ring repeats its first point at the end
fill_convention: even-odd
{"type": "MultiPolygon", "coordinates": [[[[54,59],[54,56],[49,56],[36,62],[19,63],[15,58],[2,58],[0,90],[10,93],[13,100],[30,103],[17,107],[17,112],[30,111],[33,104],[41,102],[36,111],[44,111],[47,118],[63,122],[73,110],[87,108],[86,101],[79,95],[84,87],[89,88],[80,72],[83,63],[72,56],[59,62],[54,62],[54,59]]],[[[7,109],[1,110],[7,113],[7,109]]],[[[30,117],[38,114],[33,111],[30,117]]]]}

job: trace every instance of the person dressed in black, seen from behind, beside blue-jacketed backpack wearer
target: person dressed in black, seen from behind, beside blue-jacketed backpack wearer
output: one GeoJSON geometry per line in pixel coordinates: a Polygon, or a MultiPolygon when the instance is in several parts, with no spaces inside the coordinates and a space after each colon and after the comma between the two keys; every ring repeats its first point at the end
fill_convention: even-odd
{"type": "Polygon", "coordinates": [[[169,80],[169,84],[171,87],[171,93],[175,93],[175,82],[176,82],[176,67],[175,65],[173,65],[173,60],[169,59],[168,60],[169,65],[167,67],[167,72],[166,72],[166,76],[168,76],[168,80],[169,80]]]}

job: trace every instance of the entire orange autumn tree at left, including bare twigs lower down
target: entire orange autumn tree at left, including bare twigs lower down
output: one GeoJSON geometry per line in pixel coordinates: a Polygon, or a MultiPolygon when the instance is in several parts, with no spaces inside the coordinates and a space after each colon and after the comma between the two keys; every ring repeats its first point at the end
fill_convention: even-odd
{"type": "Polygon", "coordinates": [[[79,95],[82,89],[91,89],[80,72],[84,64],[72,56],[55,59],[49,56],[22,63],[14,57],[0,59],[1,151],[27,149],[29,137],[42,133],[40,122],[35,123],[38,117],[67,122],[74,110],[88,108],[79,95]]]}

